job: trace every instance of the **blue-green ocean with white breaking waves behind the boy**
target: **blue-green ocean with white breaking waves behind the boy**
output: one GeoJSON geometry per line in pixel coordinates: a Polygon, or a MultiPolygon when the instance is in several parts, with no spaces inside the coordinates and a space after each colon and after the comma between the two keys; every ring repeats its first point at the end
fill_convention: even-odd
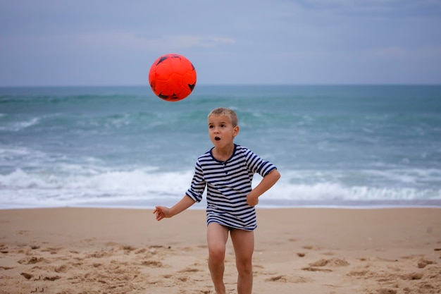
{"type": "Polygon", "coordinates": [[[218,106],[281,173],[259,207],[441,207],[441,86],[197,85],[1,87],[0,209],[170,206],[218,106]]]}

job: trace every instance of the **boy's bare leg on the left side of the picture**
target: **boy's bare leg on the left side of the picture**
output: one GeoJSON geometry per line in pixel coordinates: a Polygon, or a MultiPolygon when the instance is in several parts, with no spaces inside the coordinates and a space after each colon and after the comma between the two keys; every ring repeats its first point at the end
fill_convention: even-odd
{"type": "Polygon", "coordinates": [[[228,228],[218,223],[209,223],[206,235],[209,245],[209,269],[216,294],[225,294],[223,271],[225,269],[225,244],[228,240],[228,228]]]}

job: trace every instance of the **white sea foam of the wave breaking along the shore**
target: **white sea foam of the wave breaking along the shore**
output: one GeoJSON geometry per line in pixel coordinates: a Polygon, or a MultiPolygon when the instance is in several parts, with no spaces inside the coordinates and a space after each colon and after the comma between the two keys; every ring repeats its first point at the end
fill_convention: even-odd
{"type": "MultiPolygon", "coordinates": [[[[0,208],[171,205],[185,195],[192,172],[158,172],[154,169],[106,171],[89,175],[26,173],[20,169],[0,175],[0,208]]],[[[254,186],[259,183],[256,176],[254,186]]],[[[262,197],[266,206],[297,202],[440,200],[441,189],[348,186],[342,183],[291,183],[285,177],[262,197]]],[[[199,206],[201,208],[201,206],[199,206]]]]}

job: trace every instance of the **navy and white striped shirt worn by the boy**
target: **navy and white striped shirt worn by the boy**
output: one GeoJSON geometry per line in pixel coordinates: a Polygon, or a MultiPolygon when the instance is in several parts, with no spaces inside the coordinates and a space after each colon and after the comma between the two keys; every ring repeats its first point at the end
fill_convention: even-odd
{"type": "Polygon", "coordinates": [[[212,150],[197,159],[192,185],[186,195],[200,202],[207,187],[207,224],[215,222],[229,228],[253,231],[257,226],[256,210],[247,204],[253,175],[266,176],[276,167],[240,145],[235,145],[232,157],[227,161],[216,160],[212,150]]]}

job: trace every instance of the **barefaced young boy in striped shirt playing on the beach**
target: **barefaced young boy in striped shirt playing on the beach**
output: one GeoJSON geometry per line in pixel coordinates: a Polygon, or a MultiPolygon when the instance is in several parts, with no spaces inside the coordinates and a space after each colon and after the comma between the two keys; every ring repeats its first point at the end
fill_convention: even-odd
{"type": "Polygon", "coordinates": [[[237,293],[251,294],[254,252],[255,206],[259,196],[271,188],[280,173],[271,162],[263,161],[246,147],[233,140],[239,133],[237,115],[231,109],[213,109],[208,116],[209,136],[214,147],[198,158],[191,187],[173,207],[157,206],[156,220],[169,218],[200,202],[207,187],[207,243],[209,270],[216,294],[225,294],[223,283],[225,245],[230,232],[235,249],[237,293]],[[254,173],[263,179],[254,189],[254,173]]]}

